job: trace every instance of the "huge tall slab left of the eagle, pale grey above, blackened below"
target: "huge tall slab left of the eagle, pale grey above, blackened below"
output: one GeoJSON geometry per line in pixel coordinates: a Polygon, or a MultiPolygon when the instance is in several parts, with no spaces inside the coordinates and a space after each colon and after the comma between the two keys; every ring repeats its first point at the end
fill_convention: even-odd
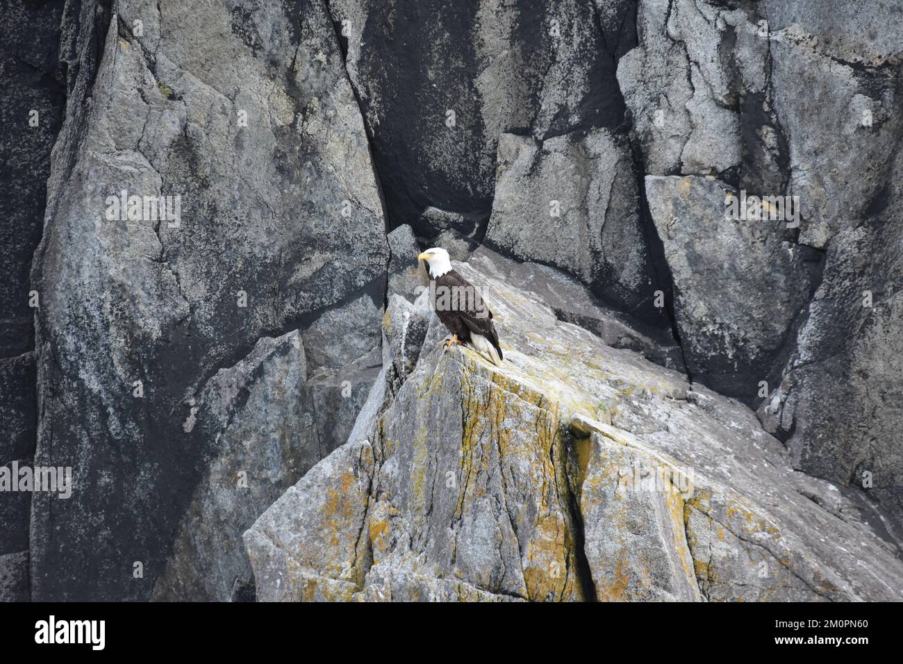
{"type": "Polygon", "coordinates": [[[321,0],[259,9],[86,2],[72,23],[33,278],[36,463],[72,465],[79,488],[34,498],[35,599],[151,594],[216,450],[183,431],[187,402],[260,337],[319,319],[312,365],[378,343],[381,306],[351,304],[381,303],[385,220],[335,32],[321,0]],[[181,220],[108,220],[122,190],[180,195],[181,220]]]}

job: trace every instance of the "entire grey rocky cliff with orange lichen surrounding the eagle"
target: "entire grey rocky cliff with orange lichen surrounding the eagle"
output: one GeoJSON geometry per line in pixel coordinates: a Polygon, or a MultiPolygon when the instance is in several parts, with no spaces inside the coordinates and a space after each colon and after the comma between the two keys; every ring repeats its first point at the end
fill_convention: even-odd
{"type": "Polygon", "coordinates": [[[0,599],[903,599],[900,0],[0,24],[0,599]]]}

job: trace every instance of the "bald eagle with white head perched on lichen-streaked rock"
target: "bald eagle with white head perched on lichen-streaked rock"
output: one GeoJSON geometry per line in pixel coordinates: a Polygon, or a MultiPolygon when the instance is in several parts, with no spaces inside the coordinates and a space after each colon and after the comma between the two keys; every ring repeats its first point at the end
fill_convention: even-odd
{"type": "Polygon", "coordinates": [[[452,332],[445,350],[455,344],[464,344],[500,366],[504,358],[498,345],[498,333],[492,324],[492,312],[477,287],[452,269],[449,252],[443,248],[427,249],[418,259],[425,262],[430,275],[433,309],[452,332]]]}

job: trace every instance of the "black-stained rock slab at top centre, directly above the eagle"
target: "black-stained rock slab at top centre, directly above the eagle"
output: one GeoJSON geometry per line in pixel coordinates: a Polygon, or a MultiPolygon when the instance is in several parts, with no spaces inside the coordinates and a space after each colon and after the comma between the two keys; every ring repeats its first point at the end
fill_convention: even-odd
{"type": "Polygon", "coordinates": [[[485,227],[503,132],[542,139],[619,125],[613,53],[630,23],[627,3],[606,5],[597,13],[580,0],[330,2],[391,227],[434,238],[439,229],[421,217],[430,206],[485,227]]]}

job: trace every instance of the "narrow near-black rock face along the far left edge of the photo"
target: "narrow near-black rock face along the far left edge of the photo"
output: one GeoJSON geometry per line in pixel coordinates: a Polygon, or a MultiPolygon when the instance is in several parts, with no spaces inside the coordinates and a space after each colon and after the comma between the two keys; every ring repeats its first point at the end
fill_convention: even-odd
{"type": "MultiPolygon", "coordinates": [[[[66,87],[58,70],[62,0],[0,7],[0,465],[31,466],[37,415],[29,282],[66,87]]],[[[0,496],[0,602],[29,598],[27,493],[0,496]]]]}

